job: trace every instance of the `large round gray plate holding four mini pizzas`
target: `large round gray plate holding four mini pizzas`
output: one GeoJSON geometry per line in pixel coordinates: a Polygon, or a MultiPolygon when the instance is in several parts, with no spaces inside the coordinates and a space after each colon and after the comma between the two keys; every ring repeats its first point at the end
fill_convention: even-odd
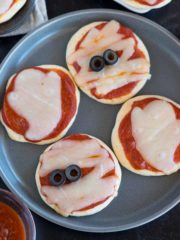
{"type": "MultiPolygon", "coordinates": [[[[108,19],[116,19],[134,29],[149,50],[152,79],[139,94],[160,94],[180,102],[178,40],[143,17],[105,9],[79,11],[55,18],[21,40],[1,66],[1,102],[11,74],[39,64],[66,66],[66,45],[72,34],[87,23],[108,19]]],[[[68,134],[89,133],[110,146],[111,130],[119,108],[97,103],[81,93],[79,113],[68,134]]],[[[129,229],[159,217],[180,199],[180,173],[168,177],[142,177],[122,169],[119,196],[106,209],[93,216],[63,218],[43,203],[36,189],[34,173],[38,157],[45,148],[11,141],[0,127],[0,166],[4,181],[30,209],[61,226],[89,232],[129,229]]]]}

